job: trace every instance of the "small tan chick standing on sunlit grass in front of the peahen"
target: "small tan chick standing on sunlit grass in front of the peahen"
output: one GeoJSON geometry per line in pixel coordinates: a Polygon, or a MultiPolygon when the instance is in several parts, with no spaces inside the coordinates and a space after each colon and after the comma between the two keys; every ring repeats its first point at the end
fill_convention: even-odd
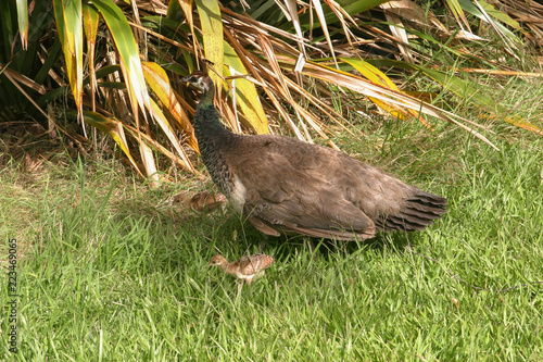
{"type": "Polygon", "coordinates": [[[247,284],[251,284],[253,278],[263,276],[265,269],[269,267],[274,262],[274,258],[269,255],[254,254],[228,263],[225,257],[216,254],[211,259],[207,266],[220,266],[226,274],[235,275],[242,282],[247,280],[247,284]]]}

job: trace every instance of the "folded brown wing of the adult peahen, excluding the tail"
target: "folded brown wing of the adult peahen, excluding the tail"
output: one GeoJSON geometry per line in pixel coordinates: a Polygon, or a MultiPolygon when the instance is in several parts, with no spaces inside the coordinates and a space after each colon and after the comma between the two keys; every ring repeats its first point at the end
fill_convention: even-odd
{"type": "Polygon", "coordinates": [[[240,155],[235,170],[245,187],[244,213],[257,228],[272,235],[269,228],[275,226],[306,230],[303,234],[314,230],[329,236],[329,230],[348,230],[374,235],[374,222],[334,184],[336,158],[341,153],[296,142],[289,154],[288,139],[285,145],[275,140],[255,145],[255,153],[240,155]]]}

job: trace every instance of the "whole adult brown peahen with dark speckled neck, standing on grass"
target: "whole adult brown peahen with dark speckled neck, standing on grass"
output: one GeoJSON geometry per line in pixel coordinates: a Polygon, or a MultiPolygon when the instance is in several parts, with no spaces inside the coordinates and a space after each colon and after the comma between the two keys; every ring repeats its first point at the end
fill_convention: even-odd
{"type": "Polygon", "coordinates": [[[207,74],[197,71],[182,82],[202,91],[194,134],[213,180],[266,235],[367,239],[376,230],[421,230],[446,212],[446,199],[330,148],[233,134],[219,121],[207,74]]]}

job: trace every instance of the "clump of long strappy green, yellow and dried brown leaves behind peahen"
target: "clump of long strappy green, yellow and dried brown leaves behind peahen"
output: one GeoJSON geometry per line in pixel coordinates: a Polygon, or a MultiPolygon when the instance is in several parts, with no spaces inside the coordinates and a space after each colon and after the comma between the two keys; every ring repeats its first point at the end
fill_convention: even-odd
{"type": "MultiPolygon", "coordinates": [[[[238,133],[269,133],[270,115],[301,139],[328,139],[331,123],[345,127],[348,112],[362,111],[354,103],[333,108],[332,93],[349,90],[366,96],[379,112],[431,127],[430,115],[491,145],[482,126],[427,102],[431,93],[412,96],[390,76],[407,73],[432,79],[489,116],[506,113],[504,121],[540,133],[433,57],[445,54],[472,72],[515,74],[497,55],[468,48],[490,41],[482,35],[493,32],[508,57],[520,59],[521,37],[538,41],[542,32],[532,17],[515,15],[530,34],[508,15],[512,1],[450,0],[446,25],[411,0],[256,1],[250,8],[244,1],[53,0],[31,2],[29,12],[25,4],[0,4],[2,118],[15,116],[12,104],[29,103],[49,129],[78,142],[87,141],[91,126],[110,135],[152,182],[159,153],[194,172],[188,154],[198,152],[190,123],[194,102],[185,100],[193,97],[172,82],[197,68],[223,85],[216,105],[238,133]],[[52,101],[74,110],[81,134],[56,121],[52,101]]],[[[541,9],[526,9],[534,11],[541,9]]]]}

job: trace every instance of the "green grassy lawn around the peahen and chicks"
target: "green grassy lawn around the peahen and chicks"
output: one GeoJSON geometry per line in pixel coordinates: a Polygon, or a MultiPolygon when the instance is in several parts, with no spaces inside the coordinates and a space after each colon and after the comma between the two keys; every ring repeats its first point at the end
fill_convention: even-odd
{"type": "Polygon", "coordinates": [[[303,238],[269,239],[276,264],[240,295],[206,263],[255,252],[263,237],[229,212],[169,205],[209,180],[149,190],[116,161],[8,164],[0,360],[543,360],[542,139],[497,126],[495,151],[450,125],[358,126],[364,143],[340,138],[343,150],[445,196],[449,213],[425,232],[315,252],[303,238]]]}

